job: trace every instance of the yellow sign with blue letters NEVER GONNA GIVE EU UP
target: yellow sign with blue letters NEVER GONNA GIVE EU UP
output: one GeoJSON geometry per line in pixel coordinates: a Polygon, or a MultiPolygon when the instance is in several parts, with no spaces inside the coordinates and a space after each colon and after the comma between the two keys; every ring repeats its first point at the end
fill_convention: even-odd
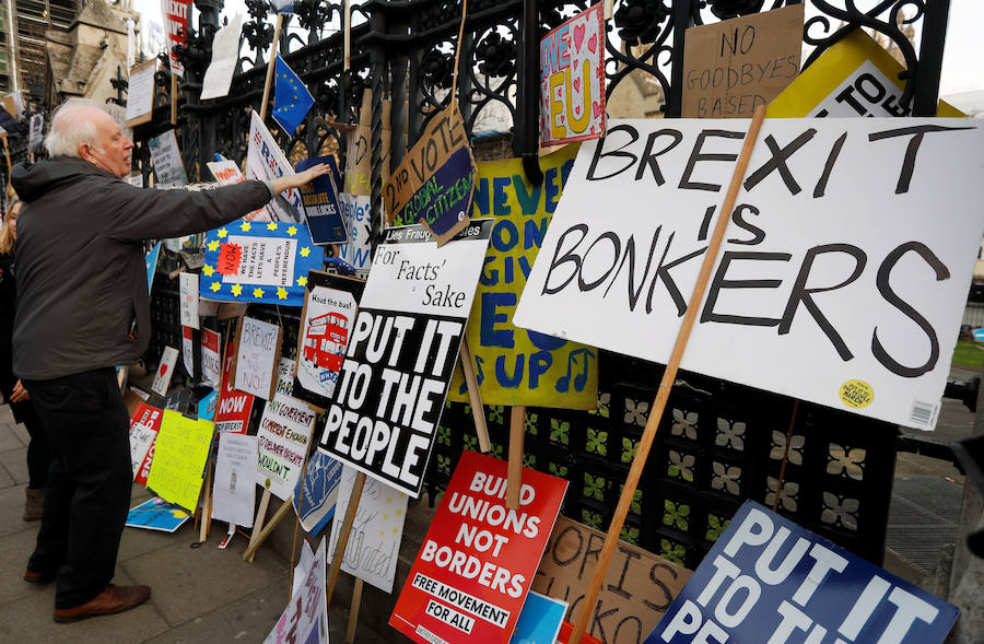
{"type": "MultiPolygon", "coordinates": [[[[578,145],[540,159],[544,179],[526,180],[518,159],[479,163],[472,216],[495,216],[466,330],[485,405],[595,409],[598,350],[513,326],[513,312],[547,234],[578,145]]],[[[452,400],[467,401],[460,365],[452,400]]]]}

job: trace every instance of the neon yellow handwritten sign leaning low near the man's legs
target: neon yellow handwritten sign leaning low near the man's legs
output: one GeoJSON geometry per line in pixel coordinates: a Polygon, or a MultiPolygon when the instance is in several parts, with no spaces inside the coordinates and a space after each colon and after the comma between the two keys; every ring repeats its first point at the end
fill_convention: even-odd
{"type": "Polygon", "coordinates": [[[147,487],[165,501],[194,513],[198,507],[201,475],[209,458],[214,428],[210,421],[191,420],[177,411],[166,410],[147,487]]]}

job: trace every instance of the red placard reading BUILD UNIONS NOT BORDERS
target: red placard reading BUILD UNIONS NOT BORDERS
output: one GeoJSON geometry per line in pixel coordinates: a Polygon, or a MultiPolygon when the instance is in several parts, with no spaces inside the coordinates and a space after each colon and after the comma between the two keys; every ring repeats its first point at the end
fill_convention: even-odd
{"type": "Polygon", "coordinates": [[[461,455],[389,618],[414,642],[509,641],[567,481],[524,468],[519,508],[508,510],[507,468],[461,455]]]}

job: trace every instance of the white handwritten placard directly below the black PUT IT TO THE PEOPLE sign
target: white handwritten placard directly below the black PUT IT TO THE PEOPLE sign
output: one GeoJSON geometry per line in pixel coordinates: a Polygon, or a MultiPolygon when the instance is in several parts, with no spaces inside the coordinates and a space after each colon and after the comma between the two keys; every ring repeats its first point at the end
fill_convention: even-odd
{"type": "MultiPolygon", "coordinates": [[[[338,484],[336,520],[331,525],[328,545],[329,563],[341,532],[342,518],[349,507],[358,471],[344,467],[338,484]]],[[[366,479],[355,510],[355,520],[342,557],[341,570],[379,588],[393,593],[396,564],[403,538],[403,520],[407,518],[408,496],[375,479],[366,479]]]]}

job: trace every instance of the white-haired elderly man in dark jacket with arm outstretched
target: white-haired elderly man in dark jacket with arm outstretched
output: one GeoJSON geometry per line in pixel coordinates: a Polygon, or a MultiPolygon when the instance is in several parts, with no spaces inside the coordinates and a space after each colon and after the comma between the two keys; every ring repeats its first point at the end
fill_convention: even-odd
{"type": "Polygon", "coordinates": [[[24,578],[57,577],[55,621],[68,622],[150,597],[148,586],[109,583],[133,478],[114,367],[138,361],[151,335],[142,242],[225,224],[327,166],[201,192],[136,188],[120,180],[133,143],[87,102],[56,113],[45,145],[50,161],[17,165],[12,177],[25,202],[13,368],[54,457],[24,578]]]}

